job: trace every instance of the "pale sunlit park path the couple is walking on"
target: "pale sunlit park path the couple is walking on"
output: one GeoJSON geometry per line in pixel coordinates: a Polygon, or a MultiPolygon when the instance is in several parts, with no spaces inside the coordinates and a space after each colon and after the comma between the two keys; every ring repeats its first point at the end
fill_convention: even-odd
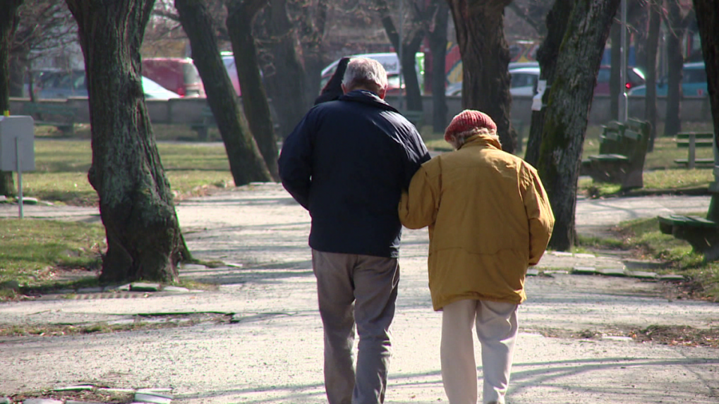
{"type": "MultiPolygon", "coordinates": [[[[591,234],[627,219],[700,213],[708,203],[701,196],[581,199],[577,229],[591,234]]],[[[135,321],[138,313],[157,314],[142,321],[171,321],[168,313],[227,316],[173,329],[0,337],[0,396],[94,382],[170,387],[175,401],[193,404],[326,402],[308,214],[277,184],[183,201],[177,211],[196,257],[234,265],[188,266],[180,276],[218,283],[219,290],[88,293],[2,303],[0,324],[114,323],[135,321]]],[[[83,208],[37,206],[24,213],[28,218],[97,220],[95,210],[83,208]]],[[[17,217],[17,206],[0,204],[0,216],[17,217]]],[[[385,403],[446,403],[439,369],[441,313],[431,310],[426,251],[426,230],[406,231],[385,403]]],[[[547,254],[539,266],[549,271],[575,265],[623,262],[612,256],[547,254]]],[[[653,324],[717,327],[718,305],[677,300],[666,283],[561,271],[529,277],[527,294],[508,403],[719,400],[716,349],[639,344],[621,337],[627,329],[653,324]],[[541,334],[551,331],[564,337],[541,334]],[[603,338],[568,337],[584,331],[603,338]]],[[[479,358],[479,346],[475,350],[479,358]]]]}

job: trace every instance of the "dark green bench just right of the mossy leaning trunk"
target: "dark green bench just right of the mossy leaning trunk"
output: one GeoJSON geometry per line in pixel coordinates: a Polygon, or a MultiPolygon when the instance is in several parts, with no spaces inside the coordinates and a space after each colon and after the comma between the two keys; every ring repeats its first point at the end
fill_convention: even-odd
{"type": "Polygon", "coordinates": [[[603,126],[599,154],[588,156],[588,174],[600,183],[620,184],[623,190],[644,186],[644,159],[649,144],[649,123],[629,119],[603,126]]]}

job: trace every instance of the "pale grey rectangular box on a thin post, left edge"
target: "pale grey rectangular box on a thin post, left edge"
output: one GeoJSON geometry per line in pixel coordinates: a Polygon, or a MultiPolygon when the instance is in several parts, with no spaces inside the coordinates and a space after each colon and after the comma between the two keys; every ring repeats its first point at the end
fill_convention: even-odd
{"type": "Polygon", "coordinates": [[[0,170],[35,170],[35,127],[32,116],[0,116],[0,170]]]}

